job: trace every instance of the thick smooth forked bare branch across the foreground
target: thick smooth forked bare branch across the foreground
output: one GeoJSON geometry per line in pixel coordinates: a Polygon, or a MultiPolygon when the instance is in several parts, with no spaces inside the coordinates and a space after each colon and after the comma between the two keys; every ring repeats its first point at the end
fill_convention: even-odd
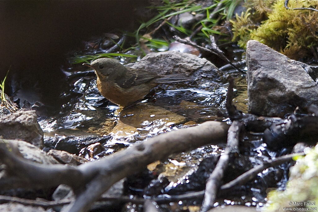
{"type": "MultiPolygon", "coordinates": [[[[0,160],[11,176],[20,182],[26,182],[19,183],[20,188],[31,184],[41,188],[69,185],[78,195],[66,211],[88,211],[115,182],[142,170],[153,161],[167,158],[170,154],[207,144],[219,144],[225,140],[228,128],[226,123],[207,121],[199,126],[159,134],[99,161],[77,167],[32,163],[18,158],[8,150],[5,143],[0,143],[0,160]]],[[[0,178],[0,186],[2,185],[5,184],[0,178]]]]}

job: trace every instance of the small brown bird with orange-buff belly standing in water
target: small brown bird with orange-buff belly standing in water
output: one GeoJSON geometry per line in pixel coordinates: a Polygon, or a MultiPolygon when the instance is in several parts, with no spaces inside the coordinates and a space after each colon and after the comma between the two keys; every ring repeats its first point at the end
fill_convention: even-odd
{"type": "Polygon", "coordinates": [[[158,83],[190,80],[184,74],[159,75],[121,65],[118,60],[99,58],[91,64],[97,75],[97,88],[106,99],[119,106],[130,106],[143,99],[158,83]]]}

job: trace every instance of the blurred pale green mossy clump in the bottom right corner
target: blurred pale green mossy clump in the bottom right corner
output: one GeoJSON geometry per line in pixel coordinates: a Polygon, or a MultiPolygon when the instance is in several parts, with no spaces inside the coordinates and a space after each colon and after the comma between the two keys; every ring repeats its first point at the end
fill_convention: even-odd
{"type": "Polygon", "coordinates": [[[305,151],[291,168],[285,191],[273,190],[267,195],[264,211],[300,211],[318,209],[318,145],[305,151]]]}

